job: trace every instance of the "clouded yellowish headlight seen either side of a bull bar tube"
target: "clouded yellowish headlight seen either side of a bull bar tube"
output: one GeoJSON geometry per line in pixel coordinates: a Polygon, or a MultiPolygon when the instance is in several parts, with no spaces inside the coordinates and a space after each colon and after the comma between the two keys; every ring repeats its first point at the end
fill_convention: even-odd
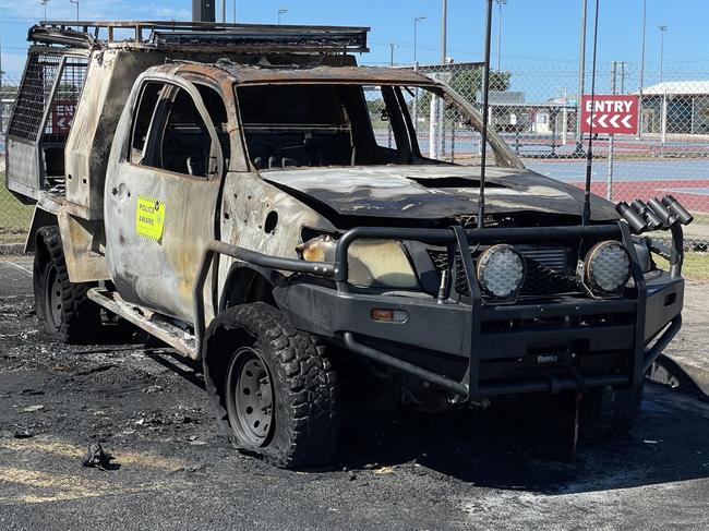
{"type": "MultiPolygon", "coordinates": [[[[337,242],[332,236],[319,236],[298,246],[308,262],[334,262],[337,242]]],[[[419,280],[400,242],[357,240],[348,252],[351,285],[375,288],[416,289],[419,280]]]]}

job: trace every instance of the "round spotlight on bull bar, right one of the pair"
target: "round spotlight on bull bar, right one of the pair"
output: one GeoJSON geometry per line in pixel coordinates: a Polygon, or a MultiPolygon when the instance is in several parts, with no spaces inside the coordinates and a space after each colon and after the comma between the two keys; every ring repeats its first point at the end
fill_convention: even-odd
{"type": "Polygon", "coordinates": [[[594,294],[617,295],[630,278],[630,256],[615,240],[593,245],[585,262],[585,280],[594,294]]]}

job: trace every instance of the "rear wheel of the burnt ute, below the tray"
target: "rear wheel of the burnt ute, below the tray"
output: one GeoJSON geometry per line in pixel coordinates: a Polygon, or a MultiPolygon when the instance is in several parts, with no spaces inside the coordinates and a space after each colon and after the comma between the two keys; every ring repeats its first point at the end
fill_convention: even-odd
{"type": "Polygon", "coordinates": [[[100,327],[100,307],[86,297],[96,282],[71,282],[58,227],[37,231],[33,267],[35,310],[44,330],[68,343],[95,339],[100,327]]]}

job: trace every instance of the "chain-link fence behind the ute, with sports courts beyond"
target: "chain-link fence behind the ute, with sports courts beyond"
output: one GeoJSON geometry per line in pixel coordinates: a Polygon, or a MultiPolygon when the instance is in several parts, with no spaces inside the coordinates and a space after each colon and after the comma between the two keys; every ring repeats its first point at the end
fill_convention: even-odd
{"type": "MultiPolygon", "coordinates": [[[[420,67],[425,75],[448,83],[481,108],[479,63],[420,67]]],[[[599,134],[593,141],[594,193],[614,202],[672,194],[694,215],[686,228],[689,246],[709,243],[709,68],[666,69],[662,82],[646,75],[640,95],[639,72],[625,63],[596,74],[597,94],[640,96],[640,131],[635,135],[599,134]]],[[[590,85],[590,72],[586,76],[590,85]]],[[[0,243],[22,241],[32,207],[20,204],[4,188],[4,132],[20,79],[0,84],[0,243]]],[[[490,123],[524,164],[540,173],[582,186],[587,138],[578,133],[576,69],[510,69],[491,73],[490,123]]],[[[383,95],[365,92],[381,145],[394,146],[383,95]]],[[[421,152],[457,164],[479,164],[480,135],[454,109],[424,90],[406,96],[421,152]]],[[[494,164],[490,153],[490,164],[494,164]]]]}

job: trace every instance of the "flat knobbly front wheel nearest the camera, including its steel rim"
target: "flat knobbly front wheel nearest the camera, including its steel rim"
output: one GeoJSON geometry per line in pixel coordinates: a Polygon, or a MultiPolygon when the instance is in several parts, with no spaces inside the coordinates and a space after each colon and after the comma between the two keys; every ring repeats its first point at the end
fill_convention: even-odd
{"type": "Polygon", "coordinates": [[[213,413],[236,448],[281,468],[332,461],[336,374],[313,336],[268,304],[242,304],[212,322],[202,353],[213,413]]]}

